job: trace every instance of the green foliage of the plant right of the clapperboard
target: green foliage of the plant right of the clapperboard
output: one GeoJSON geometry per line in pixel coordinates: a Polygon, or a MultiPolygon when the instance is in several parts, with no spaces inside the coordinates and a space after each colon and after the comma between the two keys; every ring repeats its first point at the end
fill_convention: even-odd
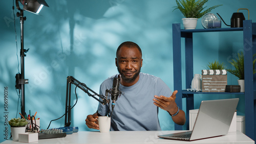
{"type": "MultiPolygon", "coordinates": [[[[253,55],[253,58],[256,56],[256,54],[253,55]]],[[[256,69],[255,69],[255,62],[256,62],[256,58],[252,61],[252,65],[253,65],[253,74],[256,73],[256,69]]],[[[227,71],[231,74],[233,74],[234,76],[238,77],[239,80],[244,80],[244,54],[243,52],[238,53],[238,58],[236,58],[236,60],[232,59],[231,65],[234,67],[234,69],[227,69],[227,71]]]]}

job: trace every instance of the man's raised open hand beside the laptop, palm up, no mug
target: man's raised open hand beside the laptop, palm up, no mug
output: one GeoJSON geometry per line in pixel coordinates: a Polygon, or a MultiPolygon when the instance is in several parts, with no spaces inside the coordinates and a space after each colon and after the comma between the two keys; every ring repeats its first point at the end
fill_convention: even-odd
{"type": "Polygon", "coordinates": [[[175,90],[170,97],[164,97],[163,95],[160,95],[160,97],[158,97],[157,95],[155,95],[155,99],[153,99],[154,104],[161,109],[168,111],[170,114],[175,114],[178,110],[177,104],[175,103],[177,92],[178,91],[175,90]]]}

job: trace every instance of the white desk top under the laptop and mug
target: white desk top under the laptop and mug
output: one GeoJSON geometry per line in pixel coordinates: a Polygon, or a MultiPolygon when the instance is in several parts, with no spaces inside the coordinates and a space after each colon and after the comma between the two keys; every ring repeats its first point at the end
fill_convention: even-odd
{"type": "MultiPolygon", "coordinates": [[[[241,132],[229,132],[225,136],[195,141],[169,140],[157,137],[157,135],[174,132],[179,131],[111,131],[109,133],[80,131],[67,135],[65,138],[39,139],[38,142],[31,143],[254,143],[252,139],[241,132]]],[[[2,143],[19,142],[6,140],[2,143]]]]}

